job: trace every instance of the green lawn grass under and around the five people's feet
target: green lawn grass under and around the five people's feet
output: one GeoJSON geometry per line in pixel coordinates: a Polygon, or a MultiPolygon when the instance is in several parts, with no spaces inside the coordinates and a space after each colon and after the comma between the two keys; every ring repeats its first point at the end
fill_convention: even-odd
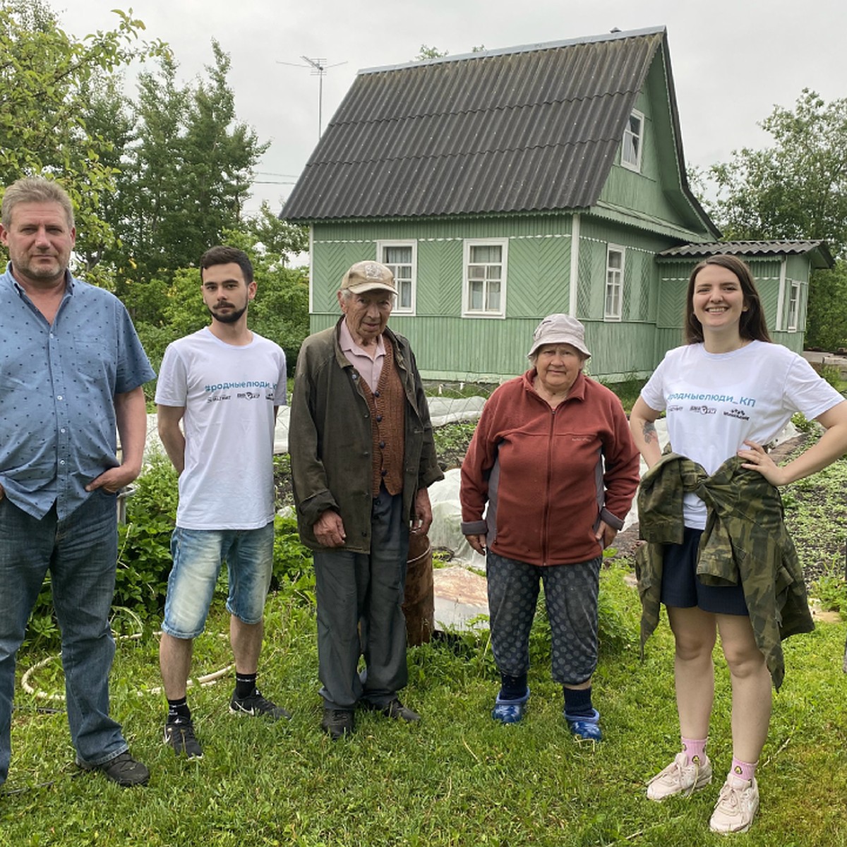
{"type": "MultiPolygon", "coordinates": [[[[162,695],[152,634],[119,643],[113,713],[152,781],[119,789],[97,774],[75,776],[64,714],[18,692],[14,756],[0,797],[0,842],[25,845],[709,845],[719,785],[689,800],[655,804],[644,783],[678,747],[673,646],[662,623],[639,662],[638,601],[623,567],[604,570],[606,634],[595,702],[606,740],[578,745],[562,720],[562,693],[550,679],[545,622],[532,641],[533,695],[524,722],[489,717],[495,672],[484,634],[455,649],[409,651],[403,697],[424,721],[408,727],[357,715],[352,739],[320,732],[313,609],[282,593],[268,601],[261,685],[294,712],[291,723],[230,717],[231,675],[191,691],[202,761],[178,761],[160,743],[162,695]],[[610,622],[611,614],[611,624],[610,622]],[[53,783],[37,788],[39,783],[53,783]]],[[[198,643],[197,673],[229,661],[226,618],[215,602],[198,643]]],[[[842,628],[825,625],[786,642],[788,674],[776,697],[759,771],[761,815],[745,845],[847,844],[847,677],[842,628]],[[800,802],[799,798],[802,798],[800,802]]],[[[27,653],[22,669],[42,658],[27,653]]],[[[717,699],[710,753],[731,756],[730,692],[716,652],[717,699]]],[[[46,686],[57,675],[39,675],[46,686]]]]}

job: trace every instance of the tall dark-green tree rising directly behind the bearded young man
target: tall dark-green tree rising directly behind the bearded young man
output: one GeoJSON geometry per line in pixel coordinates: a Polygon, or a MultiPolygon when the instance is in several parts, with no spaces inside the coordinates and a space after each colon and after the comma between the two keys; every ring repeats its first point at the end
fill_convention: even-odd
{"type": "Polygon", "coordinates": [[[117,177],[120,245],[111,252],[118,291],[169,280],[238,229],[252,169],[268,145],[235,116],[227,83],[230,58],[212,42],[207,77],[177,83],[177,64],[164,56],[141,74],[135,125],[117,177]]]}

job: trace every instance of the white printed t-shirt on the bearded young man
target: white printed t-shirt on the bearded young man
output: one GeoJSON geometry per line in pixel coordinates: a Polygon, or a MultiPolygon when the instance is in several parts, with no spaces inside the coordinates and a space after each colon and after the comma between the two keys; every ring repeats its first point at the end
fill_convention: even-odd
{"type": "Polygon", "coordinates": [[[244,346],[208,327],[169,344],[156,402],[185,407],[177,526],[258,529],[274,519],[274,407],[285,385],[285,353],[255,332],[244,346]]]}

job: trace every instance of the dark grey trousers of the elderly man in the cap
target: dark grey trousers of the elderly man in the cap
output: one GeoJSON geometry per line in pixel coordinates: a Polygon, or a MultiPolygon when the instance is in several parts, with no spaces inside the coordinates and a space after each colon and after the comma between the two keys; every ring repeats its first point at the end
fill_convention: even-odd
{"type": "Polygon", "coordinates": [[[318,677],[329,709],[359,700],[387,706],[408,679],[403,589],[409,527],[403,495],[373,501],[371,551],[314,551],[318,599],[318,677]],[[358,671],[359,657],[365,667],[358,671]]]}

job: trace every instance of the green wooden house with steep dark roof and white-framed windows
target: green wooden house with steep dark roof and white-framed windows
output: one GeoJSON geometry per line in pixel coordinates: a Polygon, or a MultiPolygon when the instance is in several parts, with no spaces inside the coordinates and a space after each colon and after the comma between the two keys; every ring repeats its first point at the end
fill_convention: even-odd
{"type": "Polygon", "coordinates": [[[769,325],[801,349],[810,266],[831,263],[820,242],[717,241],[663,27],[359,71],[282,216],[309,226],[312,330],[375,258],[429,379],[522,372],[554,312],[585,324],[591,374],[649,374],[681,338],[690,268],[725,248],[755,259],[769,325]]]}

